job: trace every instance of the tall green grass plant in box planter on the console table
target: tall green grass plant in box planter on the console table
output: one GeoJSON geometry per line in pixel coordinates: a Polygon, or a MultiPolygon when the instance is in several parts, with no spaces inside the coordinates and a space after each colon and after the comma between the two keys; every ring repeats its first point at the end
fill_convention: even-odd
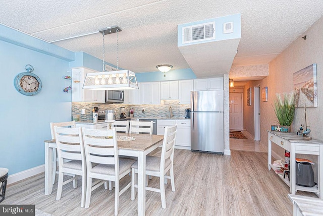
{"type": "Polygon", "coordinates": [[[291,132],[291,124],[295,114],[295,93],[284,93],[283,96],[276,93],[274,110],[279,125],[272,125],[272,130],[280,132],[291,132]]]}

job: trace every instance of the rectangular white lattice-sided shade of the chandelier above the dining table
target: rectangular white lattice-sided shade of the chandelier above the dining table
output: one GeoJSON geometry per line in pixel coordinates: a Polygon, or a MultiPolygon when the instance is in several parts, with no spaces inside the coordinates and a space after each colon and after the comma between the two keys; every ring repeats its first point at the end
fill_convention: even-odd
{"type": "Polygon", "coordinates": [[[104,71],[86,74],[83,89],[133,90],[138,89],[138,83],[136,75],[132,71],[104,71]]]}

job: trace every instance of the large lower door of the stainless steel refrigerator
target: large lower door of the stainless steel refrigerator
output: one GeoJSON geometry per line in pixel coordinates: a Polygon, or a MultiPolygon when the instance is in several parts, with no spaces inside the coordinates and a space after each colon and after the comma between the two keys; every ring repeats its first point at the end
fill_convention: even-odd
{"type": "Polygon", "coordinates": [[[191,113],[191,150],[224,153],[223,113],[191,113]]]}

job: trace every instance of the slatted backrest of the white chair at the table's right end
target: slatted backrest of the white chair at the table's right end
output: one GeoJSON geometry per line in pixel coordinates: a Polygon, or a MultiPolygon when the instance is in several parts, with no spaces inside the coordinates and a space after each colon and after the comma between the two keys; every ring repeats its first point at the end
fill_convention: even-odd
{"type": "Polygon", "coordinates": [[[160,172],[165,169],[165,160],[170,158],[173,161],[174,148],[176,144],[177,124],[173,127],[166,127],[164,133],[163,147],[161,148],[160,172]]]}

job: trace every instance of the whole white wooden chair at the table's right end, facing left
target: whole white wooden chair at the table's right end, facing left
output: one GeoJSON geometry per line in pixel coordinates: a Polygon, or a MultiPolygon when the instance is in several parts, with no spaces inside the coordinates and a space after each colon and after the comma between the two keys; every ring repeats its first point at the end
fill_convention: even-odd
{"type": "MultiPolygon", "coordinates": [[[[161,157],[146,156],[146,175],[159,177],[160,181],[160,188],[146,187],[146,190],[160,193],[161,207],[164,209],[166,208],[165,179],[171,179],[172,191],[175,191],[174,146],[176,142],[176,131],[177,125],[166,127],[163,147],[161,148],[161,157]],[[166,175],[168,171],[170,171],[170,176],[166,175]]],[[[138,162],[134,163],[131,168],[131,200],[133,201],[136,196],[135,188],[138,188],[135,183],[138,174],[138,162]]]]}

